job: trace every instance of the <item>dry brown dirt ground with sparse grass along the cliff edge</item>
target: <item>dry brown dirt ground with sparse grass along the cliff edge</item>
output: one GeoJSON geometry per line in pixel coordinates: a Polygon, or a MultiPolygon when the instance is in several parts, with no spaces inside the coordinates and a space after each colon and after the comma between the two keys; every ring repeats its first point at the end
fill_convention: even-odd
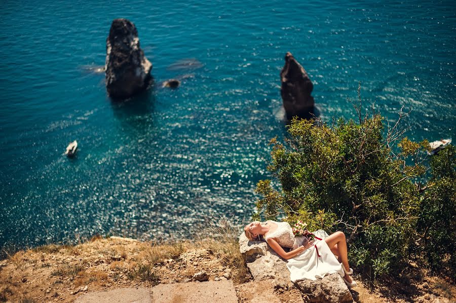
{"type": "MultiPolygon", "coordinates": [[[[19,251],[0,261],[0,302],[72,302],[88,291],[227,279],[233,280],[239,302],[302,302],[296,288],[276,289],[271,283],[252,281],[246,269],[232,261],[240,255],[225,246],[151,245],[111,237],[19,251]]],[[[425,271],[411,270],[407,278],[391,278],[374,287],[354,278],[359,284],[353,289],[358,302],[456,301],[454,282],[425,271]]]]}

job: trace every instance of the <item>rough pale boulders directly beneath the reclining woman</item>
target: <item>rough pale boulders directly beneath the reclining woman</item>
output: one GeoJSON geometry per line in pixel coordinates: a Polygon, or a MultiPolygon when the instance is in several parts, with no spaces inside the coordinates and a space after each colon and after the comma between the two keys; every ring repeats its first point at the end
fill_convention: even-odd
{"type": "Polygon", "coordinates": [[[242,233],[239,236],[239,249],[255,282],[269,280],[275,288],[295,287],[305,302],[352,303],[354,301],[339,274],[331,274],[316,281],[305,280],[293,284],[286,266],[287,260],[277,255],[266,242],[249,241],[242,233]]]}

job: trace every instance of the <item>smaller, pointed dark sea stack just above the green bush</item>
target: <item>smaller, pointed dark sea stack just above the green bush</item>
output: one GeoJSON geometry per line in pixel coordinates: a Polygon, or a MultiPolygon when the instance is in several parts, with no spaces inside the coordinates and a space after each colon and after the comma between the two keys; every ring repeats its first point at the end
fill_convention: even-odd
{"type": "Polygon", "coordinates": [[[309,118],[315,105],[314,97],[311,96],[314,85],[306,70],[290,52],[285,55],[285,65],[280,72],[280,79],[280,92],[287,119],[291,120],[294,116],[309,118]]]}

